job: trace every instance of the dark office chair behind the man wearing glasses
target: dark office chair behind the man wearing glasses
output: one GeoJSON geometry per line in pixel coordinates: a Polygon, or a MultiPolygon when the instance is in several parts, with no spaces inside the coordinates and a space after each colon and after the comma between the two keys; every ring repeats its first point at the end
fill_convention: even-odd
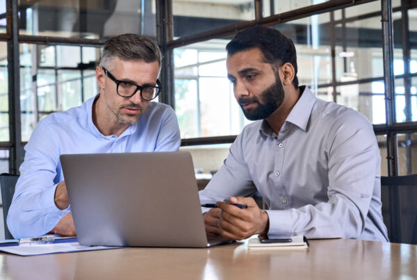
{"type": "Polygon", "coordinates": [[[7,214],[10,204],[12,204],[13,194],[19,175],[2,173],[0,174],[1,199],[3,200],[3,220],[4,220],[4,238],[13,239],[12,234],[7,227],[7,214]]]}

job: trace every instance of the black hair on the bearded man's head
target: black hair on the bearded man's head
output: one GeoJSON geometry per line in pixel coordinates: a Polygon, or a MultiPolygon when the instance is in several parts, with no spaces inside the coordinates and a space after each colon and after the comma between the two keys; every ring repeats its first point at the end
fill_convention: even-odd
{"type": "Polygon", "coordinates": [[[290,38],[286,38],[281,32],[264,26],[254,26],[240,31],[227,44],[228,56],[233,56],[239,51],[258,48],[263,53],[265,63],[281,67],[284,63],[291,63],[295,70],[293,85],[298,88],[297,79],[297,52],[290,38]]]}

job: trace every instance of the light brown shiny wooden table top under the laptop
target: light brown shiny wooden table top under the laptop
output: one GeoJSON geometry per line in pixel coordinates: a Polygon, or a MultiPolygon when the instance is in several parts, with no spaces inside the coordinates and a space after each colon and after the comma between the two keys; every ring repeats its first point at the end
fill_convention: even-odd
{"type": "Polygon", "coordinates": [[[329,239],[308,250],[254,251],[245,242],[210,249],[126,248],[0,254],[0,279],[416,279],[417,246],[329,239]]]}

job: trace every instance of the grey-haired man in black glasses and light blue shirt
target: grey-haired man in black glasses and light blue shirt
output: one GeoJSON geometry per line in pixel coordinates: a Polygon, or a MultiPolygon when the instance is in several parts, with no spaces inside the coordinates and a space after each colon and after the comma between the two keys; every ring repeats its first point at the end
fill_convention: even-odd
{"type": "Polygon", "coordinates": [[[108,40],[96,68],[99,94],[38,123],[25,146],[21,176],[8,213],[8,229],[15,238],[76,234],[61,154],[179,149],[174,110],[151,102],[162,90],[158,81],[161,59],[158,45],[141,35],[124,34],[108,40]]]}

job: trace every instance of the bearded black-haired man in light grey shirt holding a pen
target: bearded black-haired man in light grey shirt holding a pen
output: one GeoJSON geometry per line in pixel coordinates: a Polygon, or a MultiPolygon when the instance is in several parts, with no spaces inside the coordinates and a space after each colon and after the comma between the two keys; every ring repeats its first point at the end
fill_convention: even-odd
{"type": "Polygon", "coordinates": [[[202,203],[218,207],[203,208],[208,236],[388,241],[379,149],[366,117],[299,86],[294,44],[275,29],[248,28],[226,49],[236,100],[256,122],[199,192],[202,203]],[[268,210],[250,197],[257,191],[268,210]]]}

